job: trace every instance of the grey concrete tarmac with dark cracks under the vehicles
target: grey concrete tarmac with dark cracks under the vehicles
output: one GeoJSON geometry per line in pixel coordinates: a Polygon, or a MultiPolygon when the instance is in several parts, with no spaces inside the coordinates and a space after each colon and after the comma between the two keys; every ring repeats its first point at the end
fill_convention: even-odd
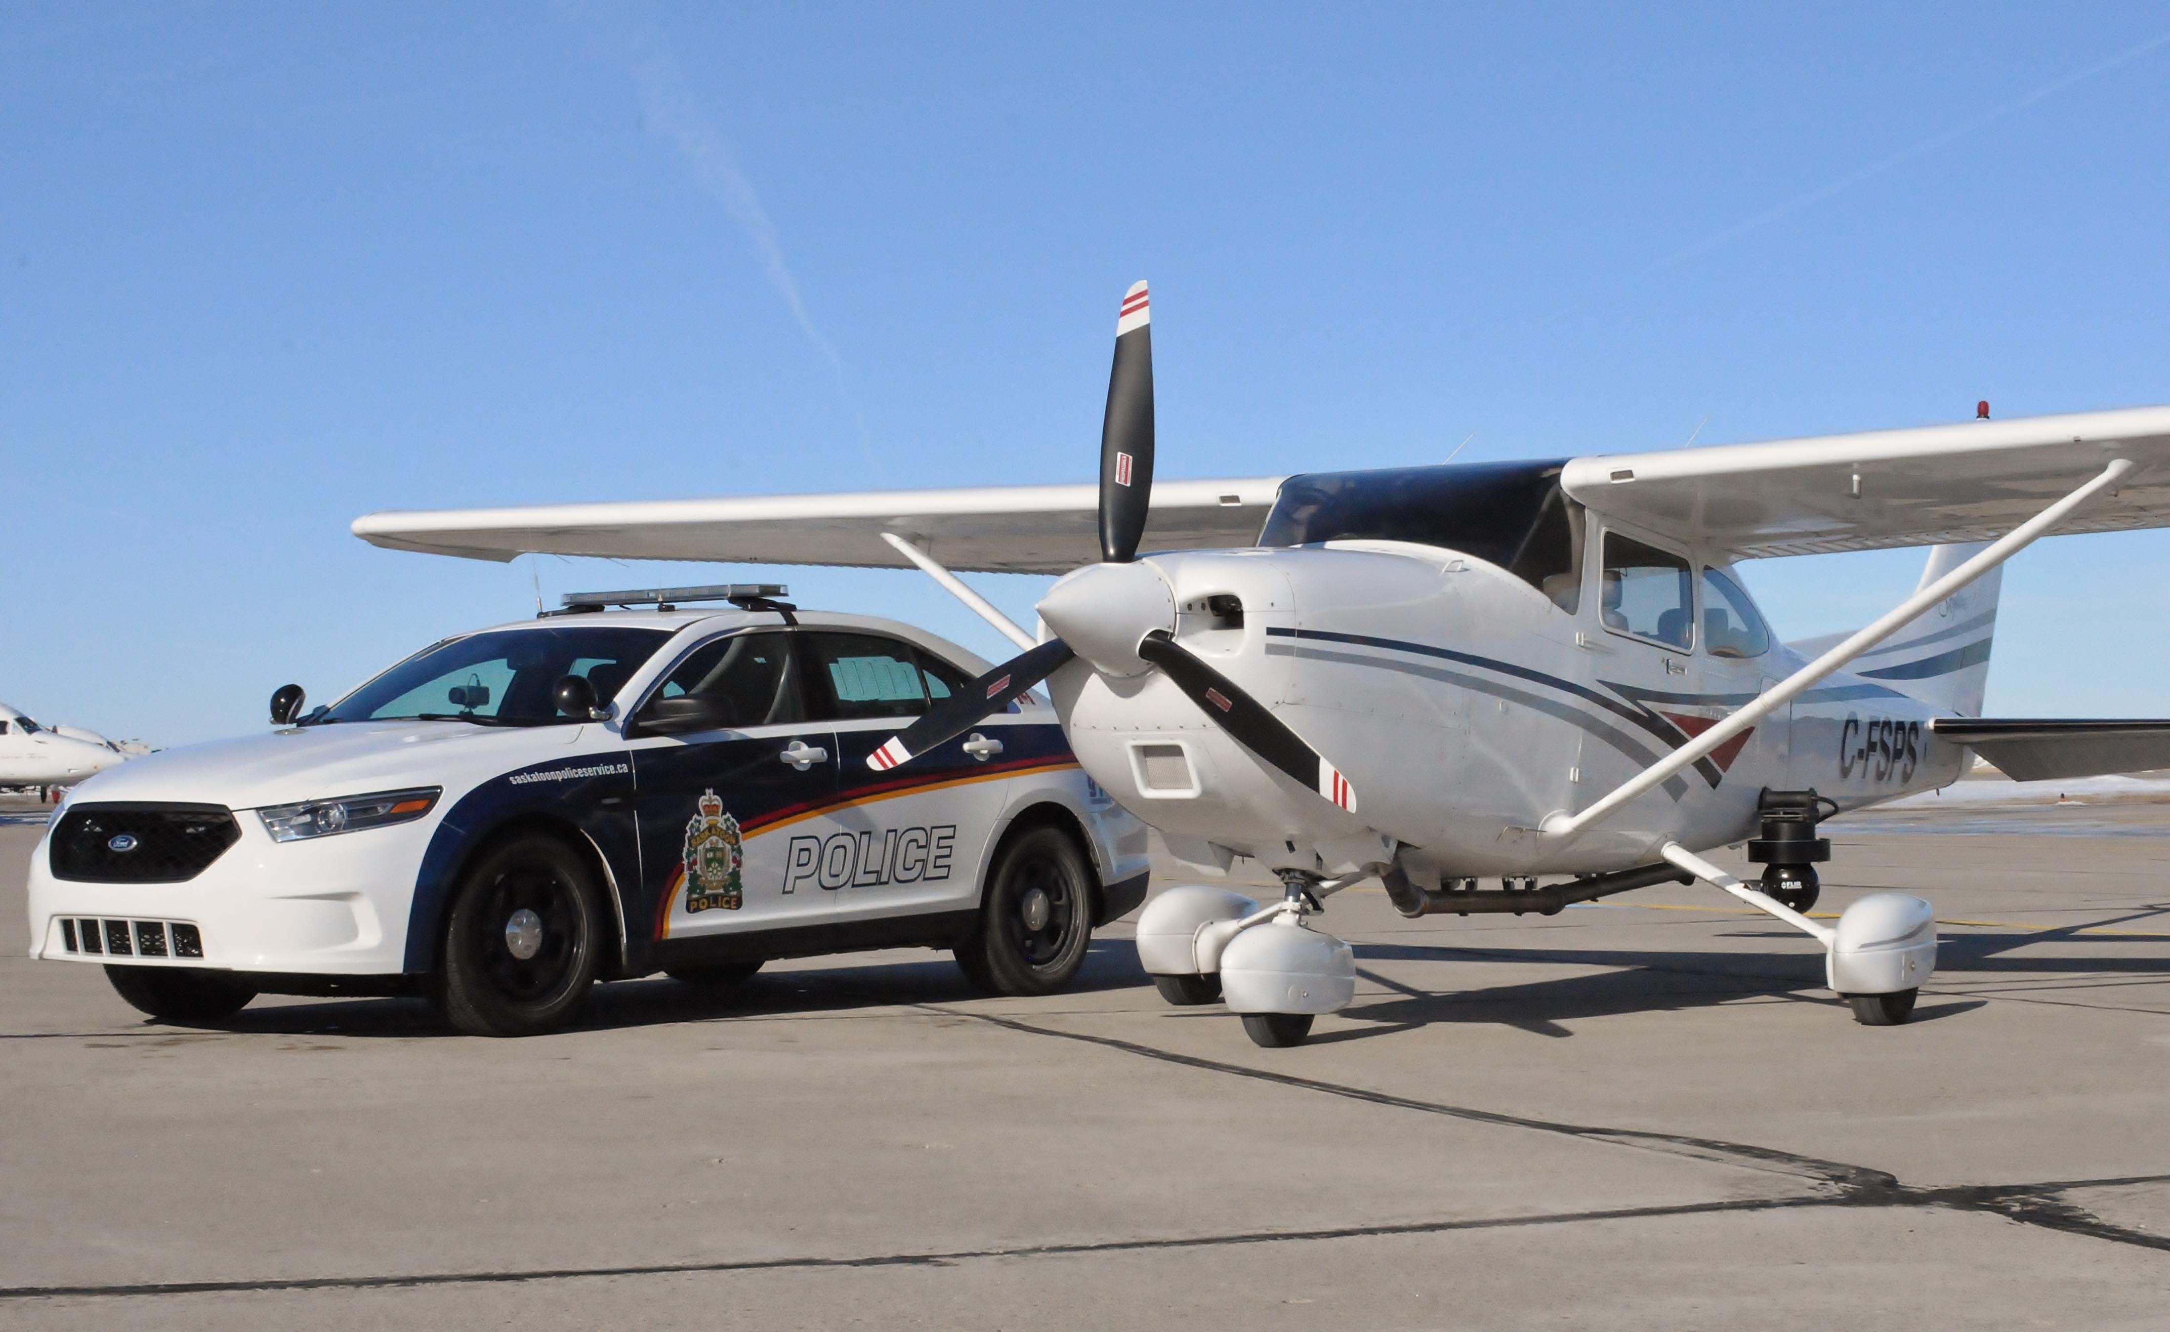
{"type": "Polygon", "coordinates": [[[1163,1004],[1126,924],[1046,1000],[911,950],[527,1041],[158,1026],[24,957],[41,818],[0,811],[7,1328],[2170,1325],[2170,805],[1831,824],[1821,911],[1946,922],[1907,1026],[1703,887],[1352,889],[1356,1002],[1293,1050],[1163,1004]]]}

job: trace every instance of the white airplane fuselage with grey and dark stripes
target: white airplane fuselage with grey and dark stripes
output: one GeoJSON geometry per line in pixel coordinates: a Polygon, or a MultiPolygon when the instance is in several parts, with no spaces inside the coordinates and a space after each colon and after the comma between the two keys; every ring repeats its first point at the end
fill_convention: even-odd
{"type": "Polygon", "coordinates": [[[1803,664],[1771,640],[1738,581],[1732,607],[1751,623],[1710,616],[1701,564],[1682,575],[1701,631],[1677,620],[1662,629],[1677,642],[1651,623],[1636,631],[1632,605],[1608,605],[1597,534],[1588,549],[1560,575],[1573,586],[1547,590],[1473,555],[1389,540],[1141,562],[1170,588],[1176,642],[1330,755],[1358,792],[1354,811],[1263,764],[1159,673],[1078,664],[1050,688],[1087,772],[1178,850],[1209,844],[1267,866],[1315,857],[1328,872],[1361,866],[1380,835],[1424,874],[1619,870],[1654,861],[1664,842],[1703,850],[1756,835],[1764,787],[1814,787],[1853,809],[1964,770],[1966,753],[1929,729],[1936,707],[1840,673],[1586,833],[1539,833],[1803,664]]]}

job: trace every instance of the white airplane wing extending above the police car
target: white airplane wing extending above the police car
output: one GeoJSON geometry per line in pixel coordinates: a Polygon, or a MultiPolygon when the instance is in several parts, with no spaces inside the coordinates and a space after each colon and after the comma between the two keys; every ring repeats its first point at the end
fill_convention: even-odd
{"type": "MultiPolygon", "coordinates": [[[[1146,551],[1248,547],[1285,477],[1157,482],[1146,551]]],[[[959,573],[1070,573],[1100,558],[1098,486],[976,486],[382,512],[354,536],[395,551],[471,560],[610,555],[729,564],[909,568],[883,531],[959,573]]]]}

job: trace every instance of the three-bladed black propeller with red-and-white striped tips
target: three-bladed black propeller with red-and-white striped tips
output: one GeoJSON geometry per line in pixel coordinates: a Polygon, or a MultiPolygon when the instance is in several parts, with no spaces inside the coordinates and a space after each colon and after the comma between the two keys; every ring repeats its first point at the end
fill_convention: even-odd
{"type": "MultiPolygon", "coordinates": [[[[1280,768],[1291,779],[1315,790],[1322,798],[1341,809],[1356,809],[1356,790],[1339,768],[1326,761],[1302,735],[1291,731],[1269,707],[1246,694],[1226,675],[1189,653],[1167,629],[1148,629],[1135,640],[1109,640],[1107,625],[1092,620],[1122,620],[1120,614],[1159,588],[1159,575],[1146,575],[1154,588],[1124,573],[1115,577],[1109,566],[1124,566],[1137,560],[1137,545],[1146,536],[1146,516],[1152,508],[1152,308],[1146,284],[1137,282],[1122,295],[1122,310],[1115,317],[1115,364],[1107,375],[1107,414],[1100,423],[1100,566],[1105,575],[1092,579],[1070,575],[1068,592],[1057,588],[1042,601],[1042,618],[1081,620],[1085,629],[1085,655],[1089,664],[1100,659],[1135,657],[1135,666],[1159,670],[1183,690],[1222,731],[1237,744],[1252,751],[1267,764],[1280,768]],[[1128,605],[1113,605],[1128,603],[1128,605]],[[1109,610],[1115,614],[1094,614],[1109,610]],[[1068,612],[1068,614],[1061,614],[1068,612]],[[1098,651],[1096,651],[1098,649],[1098,651]]],[[[1083,571],[1081,571],[1083,573],[1083,571]]],[[[1172,607],[1170,607],[1172,610],[1172,607]]],[[[1120,633],[1120,627],[1118,627],[1120,633]]],[[[1135,633],[1135,629],[1133,629],[1135,633]]],[[[1078,638],[1078,633],[1072,633],[1078,638]]],[[[955,740],[970,727],[1009,707],[1046,677],[1061,670],[1078,651],[1063,638],[1050,638],[1024,653],[1003,662],[987,675],[974,679],[966,690],[937,703],[920,720],[892,735],[881,748],[866,757],[866,766],[877,772],[911,761],[937,744],[955,740]]]]}

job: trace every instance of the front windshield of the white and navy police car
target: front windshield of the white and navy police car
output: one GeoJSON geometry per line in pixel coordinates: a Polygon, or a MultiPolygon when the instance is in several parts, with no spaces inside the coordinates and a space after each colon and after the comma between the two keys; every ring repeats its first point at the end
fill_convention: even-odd
{"type": "Polygon", "coordinates": [[[668,629],[623,625],[469,633],[414,653],[308,720],[423,718],[477,727],[579,722],[588,718],[564,716],[551,701],[551,688],[562,677],[584,675],[595,686],[595,696],[610,703],[668,638],[668,629]]]}

